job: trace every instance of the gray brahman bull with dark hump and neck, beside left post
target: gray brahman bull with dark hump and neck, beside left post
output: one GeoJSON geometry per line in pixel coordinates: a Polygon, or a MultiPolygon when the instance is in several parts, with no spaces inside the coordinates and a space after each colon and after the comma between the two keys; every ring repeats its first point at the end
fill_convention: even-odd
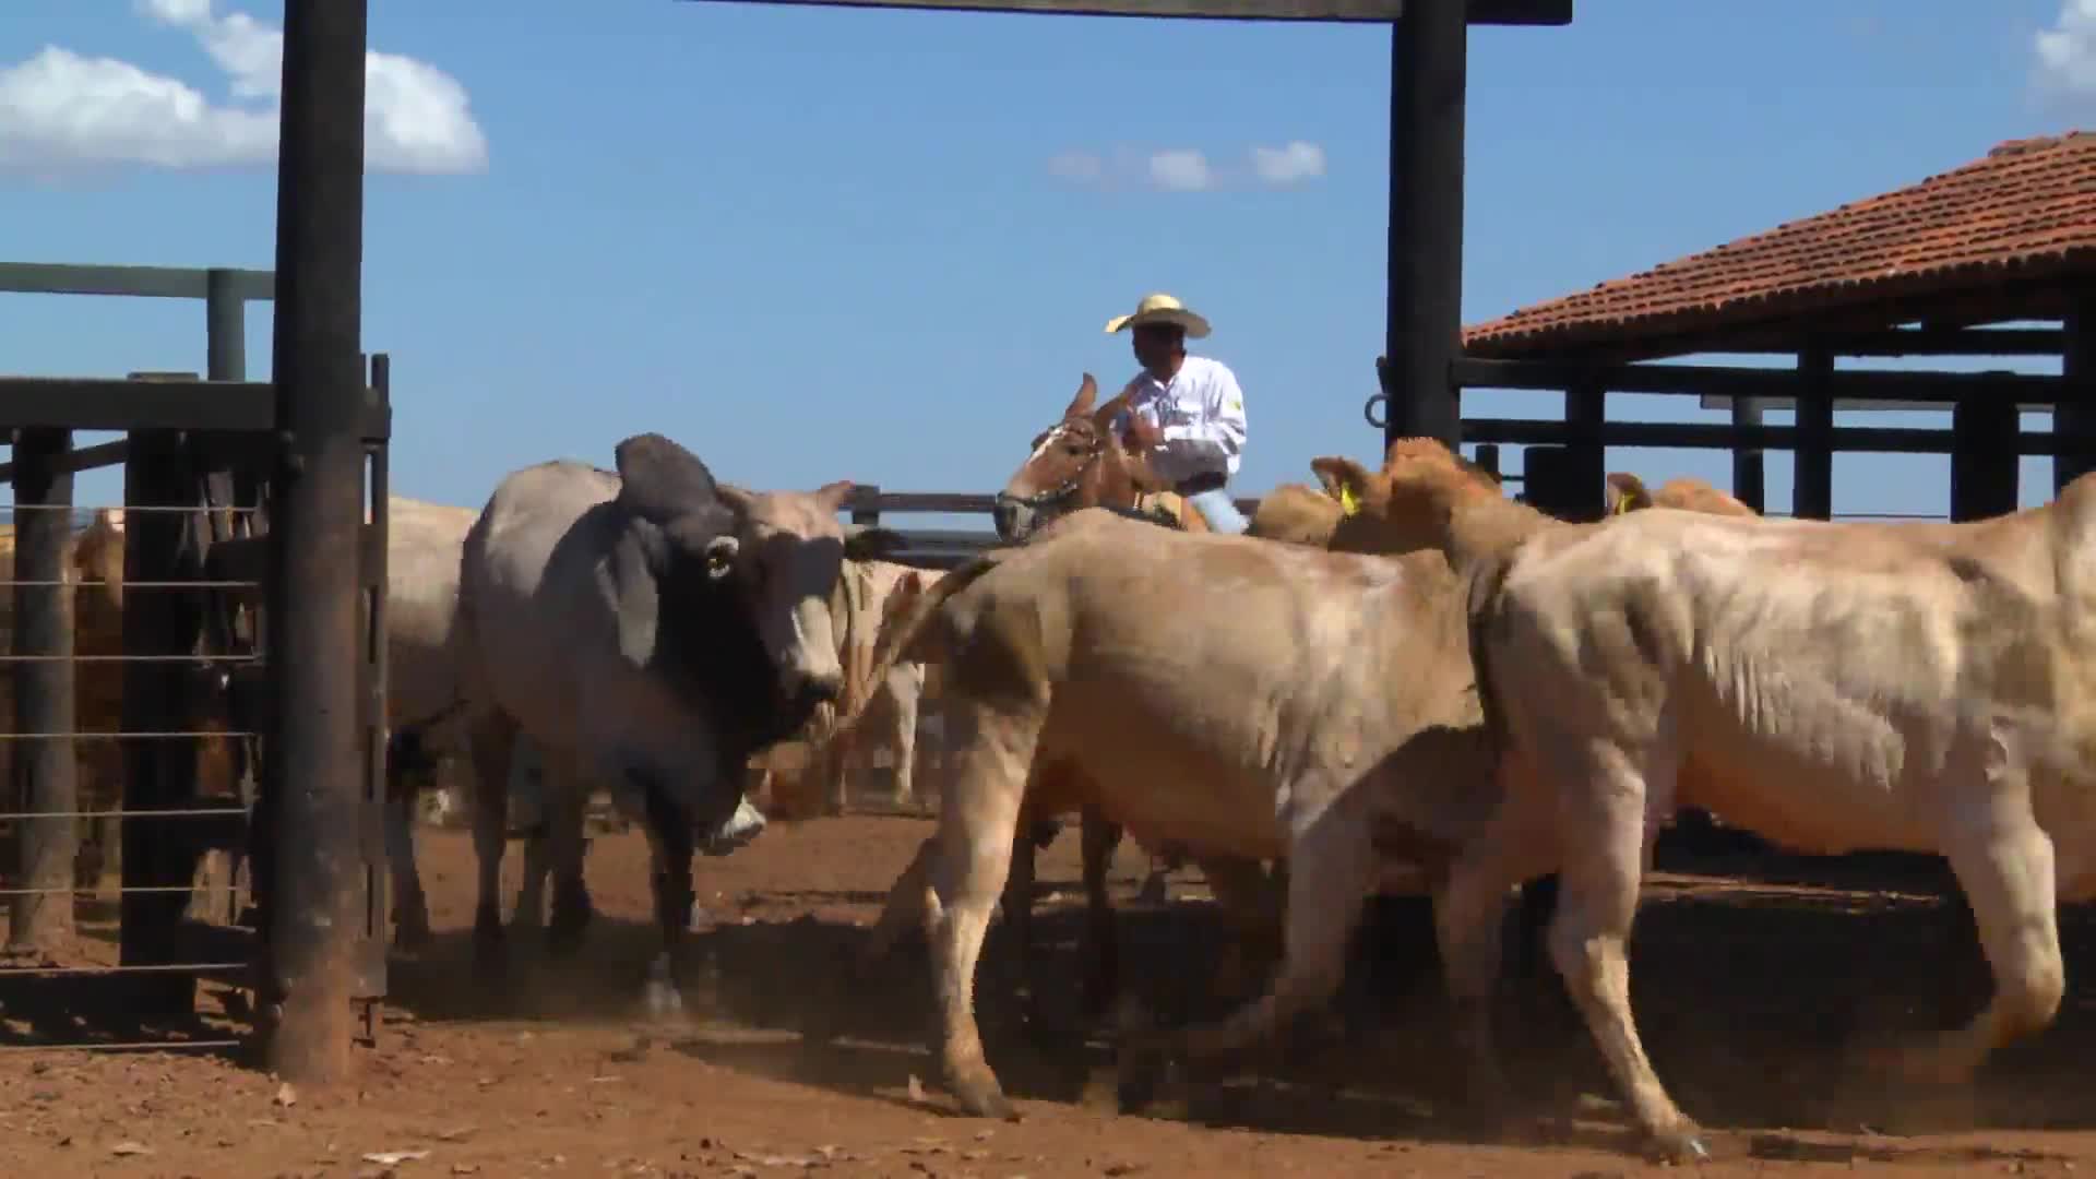
{"type": "Polygon", "coordinates": [[[474,755],[480,900],[474,963],[501,967],[501,856],[518,734],[545,757],[553,871],[549,944],[589,919],[583,783],[643,822],[662,950],[648,1003],[677,1005],[692,908],[692,829],[723,827],[750,755],[843,690],[828,598],[845,556],[901,537],[847,531],[849,483],[813,493],[717,485],[660,434],[616,447],[618,472],[522,468],[465,537],[453,657],[474,755]]]}

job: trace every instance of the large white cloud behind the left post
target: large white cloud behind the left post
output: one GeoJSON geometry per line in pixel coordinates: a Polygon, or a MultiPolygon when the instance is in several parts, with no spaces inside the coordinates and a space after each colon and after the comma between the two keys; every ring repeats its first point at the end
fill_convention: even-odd
{"type": "MultiPolygon", "coordinates": [[[[140,10],[197,40],[226,76],[231,101],[109,57],[44,46],[0,67],[0,172],[82,168],[228,168],[277,157],[283,31],[214,0],[138,0],[140,10]]],[[[465,86],[411,57],[365,57],[365,168],[482,172],[488,143],[465,86]]]]}

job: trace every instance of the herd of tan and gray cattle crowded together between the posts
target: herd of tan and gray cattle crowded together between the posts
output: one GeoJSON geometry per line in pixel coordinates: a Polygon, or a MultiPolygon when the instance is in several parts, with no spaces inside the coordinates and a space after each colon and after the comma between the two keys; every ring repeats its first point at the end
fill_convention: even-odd
{"type": "Polygon", "coordinates": [[[516,827],[514,921],[545,917],[549,879],[547,944],[572,950],[583,806],[604,789],[648,835],[646,999],[671,1009],[694,854],[729,854],[765,814],[836,812],[840,768],[874,741],[910,791],[922,707],[943,734],[937,831],[857,967],[924,936],[937,1059],[968,1114],[1012,1110],[975,1024],[985,931],[1002,904],[1025,950],[1033,850],[1067,814],[1094,1011],[1115,986],[1102,864],[1123,831],[1201,869],[1235,961],[1266,978],[1218,1024],[1126,1032],[1123,1106],[1163,1066],[1222,1062],[1327,1001],[1364,902],[1419,894],[1471,1099],[1501,1108],[1503,917],[1555,875],[1547,955],[1624,1106],[1660,1154],[1704,1156],[1641,1047],[1624,955],[1683,806],[1798,852],[1949,862],[1993,996],[1886,1053],[1895,1074],[1962,1078],[2052,1022],[2056,904],[2096,883],[2088,476],[1945,524],[1763,518],[1698,480],[1616,474],[1606,518],[1566,522],[1404,438],[1377,470],[1314,459],[1318,485],[1276,489],[1237,537],[1159,493],[1094,399],[1086,378],[1000,495],[1006,543],[943,575],[880,560],[895,533],[840,524],[849,483],[732,487],[658,434],[620,443],[616,470],[522,468],[478,512],[394,497],[396,936],[428,934],[413,770],[449,743],[472,764],[474,967],[503,969],[516,827]],[[788,741],[813,749],[803,772],[763,762],[788,741]]]}

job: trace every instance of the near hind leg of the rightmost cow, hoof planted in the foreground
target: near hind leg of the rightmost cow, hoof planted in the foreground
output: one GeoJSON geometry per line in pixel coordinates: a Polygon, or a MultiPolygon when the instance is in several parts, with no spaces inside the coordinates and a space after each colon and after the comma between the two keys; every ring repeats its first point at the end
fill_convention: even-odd
{"type": "Polygon", "coordinates": [[[1574,736],[1534,749],[1536,764],[1570,787],[1557,814],[1566,854],[1549,931],[1551,963],[1637,1127],[1664,1156],[1708,1158],[1696,1122],[1660,1085],[1631,1015],[1626,946],[1652,843],[1645,799],[1673,797],[1675,766],[1643,747],[1574,736]]]}

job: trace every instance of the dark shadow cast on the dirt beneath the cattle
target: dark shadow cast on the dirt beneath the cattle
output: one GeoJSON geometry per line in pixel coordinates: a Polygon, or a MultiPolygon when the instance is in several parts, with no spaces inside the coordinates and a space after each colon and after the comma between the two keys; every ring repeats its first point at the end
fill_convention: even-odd
{"type": "MultiPolygon", "coordinates": [[[[811,898],[801,898],[803,902],[811,898]]],[[[828,896],[826,904],[878,898],[828,896]]],[[[1165,1026],[1228,1009],[1207,990],[1224,948],[1207,902],[1170,910],[1121,904],[1123,982],[1165,1026]]],[[[2065,913],[2071,961],[2088,921],[2065,913]]],[[[1113,1108],[1113,1047],[1075,1013],[1079,913],[1035,915],[1040,988],[1014,994],[1010,946],[991,931],[979,976],[979,1017],[994,1068],[1019,1099],[1113,1108]],[[1038,1017],[1033,1017],[1038,1015],[1038,1017]]],[[[843,921],[729,923],[694,936],[681,967],[690,1024],[658,1043],[711,1064],[874,1099],[949,1108],[926,1053],[933,1028],[922,944],[855,978],[868,931],[843,921]],[[836,1038],[799,1032],[830,1022],[836,1038]]],[[[1977,1129],[2086,1129],[2096,1099],[2081,1082],[2096,1053],[2096,988],[2069,994],[2058,1024],[1995,1055],[1981,1080],[1951,1091],[1895,1085],[1859,1066],[1853,1049],[1930,1024],[1941,1009],[1945,921],[1926,900],[1723,883],[1656,896],[1639,919],[1633,978],[1641,1032],[1681,1106],[1721,1129],[1721,1156],[1788,1160],[1983,1162],[2027,1156],[1966,1148],[1903,1150],[1878,1135],[1977,1129]],[[1863,1135],[1817,1141],[1824,1133],[1863,1135]]],[[[646,925],[597,919],[572,961],[547,961],[511,940],[499,988],[474,982],[470,940],[440,938],[396,959],[392,1003],[419,1020],[625,1022],[654,952],[646,925]]],[[[2088,971],[2079,971],[2088,973],[2088,971]]],[[[1553,1143],[1620,1150],[1614,1091],[1555,976],[1509,980],[1501,1051],[1532,1106],[1518,1124],[1553,1143]]],[[[1151,1110],[1211,1127],[1480,1141],[1461,1099],[1450,1013],[1419,906],[1394,904],[1356,946],[1335,1009],[1306,1020],[1287,1043],[1228,1076],[1178,1085],[1151,1110]],[[1379,950],[1379,952],[1377,952],[1379,950]],[[1423,950],[1423,952],[1421,952],[1423,950]]],[[[1505,1137],[1497,1137],[1505,1141],[1505,1137]]]]}

